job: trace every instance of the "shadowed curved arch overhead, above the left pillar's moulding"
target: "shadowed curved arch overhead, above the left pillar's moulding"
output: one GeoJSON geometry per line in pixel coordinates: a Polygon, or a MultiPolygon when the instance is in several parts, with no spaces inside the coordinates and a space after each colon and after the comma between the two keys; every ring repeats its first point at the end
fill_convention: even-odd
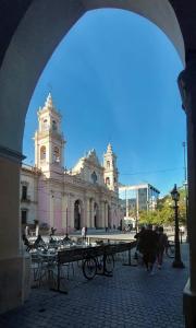
{"type": "MultiPolygon", "coordinates": [[[[177,1],[170,2],[177,12],[177,1]]],[[[168,35],[184,62],[183,37],[170,2],[168,0],[15,0],[14,3],[11,0],[0,1],[2,19],[0,26],[3,35],[0,39],[2,43],[0,145],[22,151],[25,115],[36,83],[58,44],[88,10],[124,9],[149,19],[168,35]]]]}

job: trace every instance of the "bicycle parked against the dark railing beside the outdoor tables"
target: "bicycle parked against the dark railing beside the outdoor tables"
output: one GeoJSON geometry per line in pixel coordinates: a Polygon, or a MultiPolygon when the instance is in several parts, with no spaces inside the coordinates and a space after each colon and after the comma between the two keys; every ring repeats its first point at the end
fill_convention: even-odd
{"type": "Polygon", "coordinates": [[[114,258],[112,254],[103,254],[86,258],[83,262],[83,274],[91,280],[96,274],[112,276],[114,268],[114,258]]]}

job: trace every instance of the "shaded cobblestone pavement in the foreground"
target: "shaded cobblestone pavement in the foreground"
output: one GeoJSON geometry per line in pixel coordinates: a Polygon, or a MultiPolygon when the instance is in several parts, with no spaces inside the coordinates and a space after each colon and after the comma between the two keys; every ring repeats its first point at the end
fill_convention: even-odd
{"type": "Polygon", "coordinates": [[[149,276],[142,266],[117,261],[112,278],[86,281],[81,269],[66,281],[69,294],[42,288],[32,290],[21,308],[0,317],[1,328],[184,328],[182,293],[188,277],[187,245],[182,247],[185,269],[173,269],[166,258],[162,270],[149,276]]]}

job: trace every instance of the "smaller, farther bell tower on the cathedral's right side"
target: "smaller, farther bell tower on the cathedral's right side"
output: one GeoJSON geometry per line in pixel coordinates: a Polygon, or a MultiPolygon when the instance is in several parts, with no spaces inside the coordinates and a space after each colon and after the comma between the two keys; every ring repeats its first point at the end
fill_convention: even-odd
{"type": "Polygon", "coordinates": [[[103,167],[105,167],[105,184],[107,187],[114,191],[119,191],[119,172],[117,168],[117,155],[113,153],[112,147],[109,143],[107,152],[103,154],[103,167]]]}

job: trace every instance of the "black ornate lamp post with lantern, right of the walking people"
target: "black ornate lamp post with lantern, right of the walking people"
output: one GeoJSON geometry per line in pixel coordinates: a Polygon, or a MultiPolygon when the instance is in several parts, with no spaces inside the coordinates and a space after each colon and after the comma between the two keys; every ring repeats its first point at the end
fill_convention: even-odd
{"type": "Polygon", "coordinates": [[[172,263],[173,268],[184,268],[184,263],[181,260],[181,249],[180,249],[180,239],[179,239],[179,206],[177,201],[180,200],[180,194],[176,189],[176,184],[174,185],[174,188],[171,190],[171,197],[174,201],[174,213],[175,213],[175,258],[172,263]]]}

